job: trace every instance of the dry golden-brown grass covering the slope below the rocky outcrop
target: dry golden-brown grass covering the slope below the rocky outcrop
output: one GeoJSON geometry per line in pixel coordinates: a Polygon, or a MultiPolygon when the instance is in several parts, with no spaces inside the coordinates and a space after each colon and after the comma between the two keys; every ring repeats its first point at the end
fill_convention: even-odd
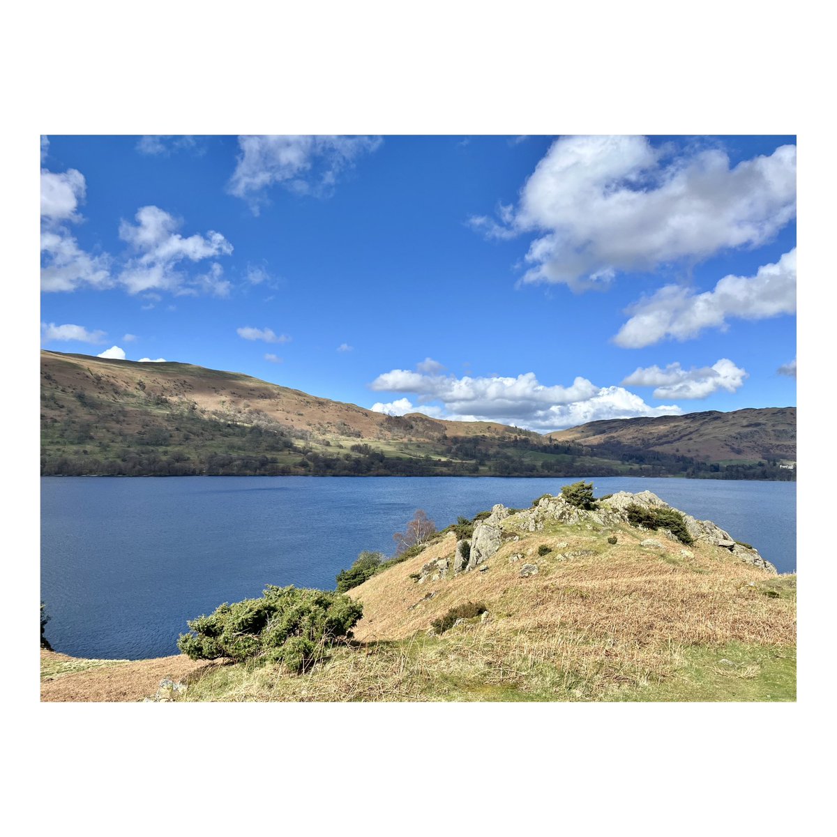
{"type": "Polygon", "coordinates": [[[690,547],[693,557],[664,539],[664,551],[639,547],[647,534],[625,526],[619,543],[603,548],[608,532],[565,527],[506,543],[485,573],[414,583],[408,576],[424,562],[453,554],[454,537],[447,537],[350,592],[365,612],[355,635],[366,642],[406,638],[454,605],[480,601],[490,619],[470,629],[472,641],[460,643],[471,663],[480,657],[505,681],[515,673],[531,679],[548,664],[597,688],[665,677],[691,645],[795,644],[793,598],[763,594],[776,579],[771,573],[706,544],[690,547]],[[568,546],[559,551],[557,542],[568,546]],[[554,552],[538,557],[542,543],[554,552]],[[601,552],[560,558],[585,548],[601,552]],[[537,563],[538,574],[519,578],[523,561],[508,560],[515,552],[537,563]],[[434,598],[407,609],[429,592],[434,598]]]}

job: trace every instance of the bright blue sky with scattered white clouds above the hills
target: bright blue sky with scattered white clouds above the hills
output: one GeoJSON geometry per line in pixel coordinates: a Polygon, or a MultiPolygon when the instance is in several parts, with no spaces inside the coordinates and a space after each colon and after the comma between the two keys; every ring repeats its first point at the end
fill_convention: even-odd
{"type": "Polygon", "coordinates": [[[42,140],[41,337],[541,431],[796,403],[795,139],[42,140]]]}

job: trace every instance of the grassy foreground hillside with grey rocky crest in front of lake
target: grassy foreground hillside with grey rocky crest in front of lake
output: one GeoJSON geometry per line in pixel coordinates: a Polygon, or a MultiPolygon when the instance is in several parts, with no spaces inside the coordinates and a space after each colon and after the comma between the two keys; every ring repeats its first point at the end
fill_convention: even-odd
{"type": "Polygon", "coordinates": [[[684,516],[688,545],[637,528],[634,505],[669,508],[650,492],[594,511],[544,496],[439,533],[349,591],[363,605],[354,639],[321,649],[302,675],[43,652],[42,700],[795,700],[796,577],[709,521],[684,516]],[[467,603],[484,612],[433,628],[467,603]]]}

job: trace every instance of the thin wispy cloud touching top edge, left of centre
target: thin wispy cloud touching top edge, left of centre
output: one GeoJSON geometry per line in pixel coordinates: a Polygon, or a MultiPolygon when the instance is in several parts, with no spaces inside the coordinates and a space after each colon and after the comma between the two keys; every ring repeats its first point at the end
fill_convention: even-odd
{"type": "Polygon", "coordinates": [[[256,214],[264,190],[274,184],[296,194],[325,196],[343,170],[381,142],[378,136],[239,136],[241,153],[229,192],[249,200],[256,214]]]}

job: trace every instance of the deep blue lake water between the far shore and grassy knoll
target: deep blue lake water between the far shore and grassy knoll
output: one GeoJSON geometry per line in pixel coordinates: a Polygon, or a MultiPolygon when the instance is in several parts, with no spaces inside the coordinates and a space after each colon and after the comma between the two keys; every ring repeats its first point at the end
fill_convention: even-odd
{"type": "Polygon", "coordinates": [[[526,507],[576,479],[650,490],[796,568],[796,484],[638,477],[44,477],[41,598],[57,651],[177,653],[186,620],[264,584],[333,589],[363,549],[393,552],[416,509],[437,528],[495,503],[526,507]]]}

